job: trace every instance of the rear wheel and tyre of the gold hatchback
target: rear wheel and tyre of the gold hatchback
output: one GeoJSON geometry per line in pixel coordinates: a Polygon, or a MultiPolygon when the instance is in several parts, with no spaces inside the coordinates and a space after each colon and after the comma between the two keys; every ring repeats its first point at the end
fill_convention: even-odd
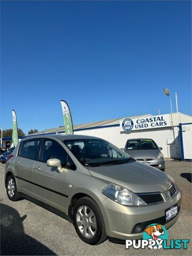
{"type": "Polygon", "coordinates": [[[21,198],[20,193],[17,190],[17,184],[13,174],[9,175],[6,179],[6,193],[11,201],[17,201],[21,198]]]}

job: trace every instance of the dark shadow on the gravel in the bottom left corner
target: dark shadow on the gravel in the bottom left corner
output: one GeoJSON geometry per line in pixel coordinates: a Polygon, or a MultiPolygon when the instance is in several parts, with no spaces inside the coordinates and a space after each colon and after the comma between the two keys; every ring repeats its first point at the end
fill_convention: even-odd
{"type": "Polygon", "coordinates": [[[0,203],[1,255],[57,255],[36,239],[25,234],[23,220],[18,211],[0,203]]]}

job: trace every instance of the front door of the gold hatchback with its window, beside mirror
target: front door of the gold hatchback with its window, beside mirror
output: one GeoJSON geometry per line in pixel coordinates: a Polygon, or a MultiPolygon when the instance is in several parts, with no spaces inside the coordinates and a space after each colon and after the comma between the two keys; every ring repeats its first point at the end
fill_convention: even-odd
{"type": "Polygon", "coordinates": [[[38,200],[68,213],[66,187],[70,170],[58,173],[55,167],[46,165],[50,158],[58,158],[63,167],[68,154],[58,141],[43,139],[38,161],[35,162],[32,176],[32,195],[38,200]]]}

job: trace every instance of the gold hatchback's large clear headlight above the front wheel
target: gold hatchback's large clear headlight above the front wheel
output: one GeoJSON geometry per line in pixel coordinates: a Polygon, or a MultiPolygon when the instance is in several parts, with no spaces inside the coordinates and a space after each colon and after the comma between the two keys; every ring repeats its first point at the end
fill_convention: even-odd
{"type": "Polygon", "coordinates": [[[102,193],[119,204],[130,206],[147,205],[131,190],[116,185],[114,183],[111,183],[103,188],[102,193]]]}

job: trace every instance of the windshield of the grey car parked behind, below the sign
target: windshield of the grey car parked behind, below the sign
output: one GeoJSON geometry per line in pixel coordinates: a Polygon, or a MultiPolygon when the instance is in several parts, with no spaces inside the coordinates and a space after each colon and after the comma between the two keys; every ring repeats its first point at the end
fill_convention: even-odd
{"type": "Polygon", "coordinates": [[[146,149],[158,149],[155,141],[151,139],[136,139],[128,140],[126,145],[127,150],[146,150],[146,149]]]}

